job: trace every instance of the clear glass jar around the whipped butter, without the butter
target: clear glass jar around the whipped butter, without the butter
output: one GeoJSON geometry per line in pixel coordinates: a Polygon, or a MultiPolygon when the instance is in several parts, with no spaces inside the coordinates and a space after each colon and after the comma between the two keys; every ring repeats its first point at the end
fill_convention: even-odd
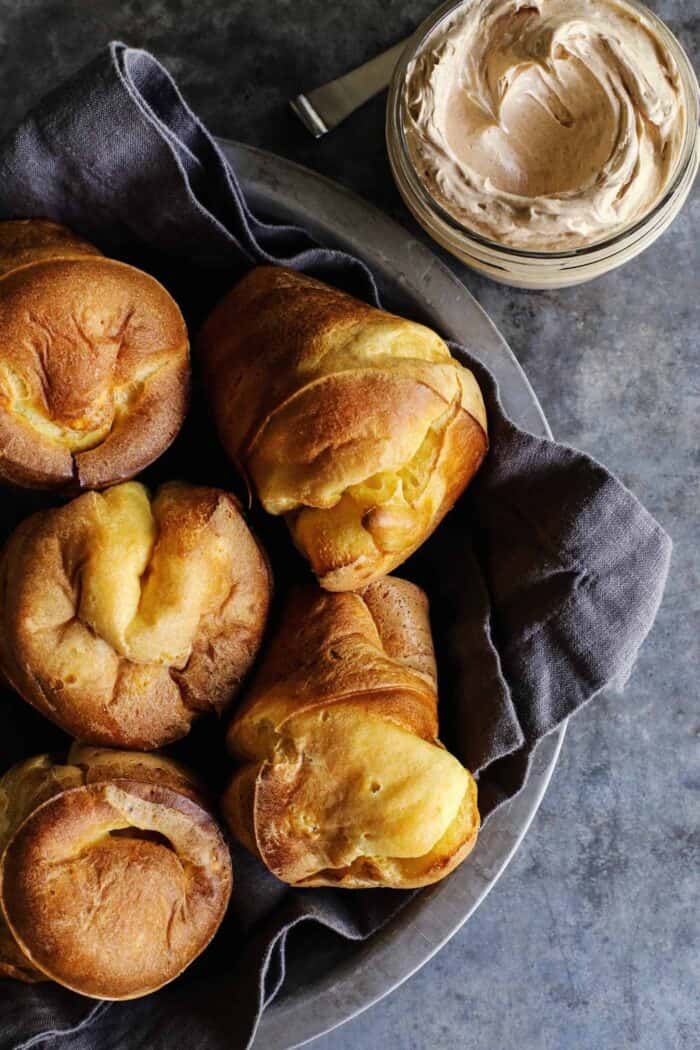
{"type": "Polygon", "coordinates": [[[449,2],[440,7],[416,30],[397,63],[386,109],[386,145],[391,171],[399,191],[423,229],[467,266],[492,280],[516,288],[548,289],[579,285],[609,273],[649,248],[674,220],[691,190],[700,160],[698,81],[685,51],[669,27],[637,0],[625,5],[643,14],[678,66],[686,107],[685,138],[669,187],[651,210],[614,235],[570,250],[530,251],[510,248],[470,230],[454,218],[428,192],[413,167],[405,135],[405,84],[410,63],[429,46],[460,7],[472,0],[449,2]]]}

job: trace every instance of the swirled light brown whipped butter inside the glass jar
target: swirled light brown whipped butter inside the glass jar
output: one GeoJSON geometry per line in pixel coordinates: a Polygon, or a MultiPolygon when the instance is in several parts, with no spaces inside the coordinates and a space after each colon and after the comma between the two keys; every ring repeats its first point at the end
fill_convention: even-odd
{"type": "Polygon", "coordinates": [[[473,0],[408,66],[404,133],[430,196],[511,248],[567,251],[641,219],[687,120],[673,55],[617,0],[473,0]]]}

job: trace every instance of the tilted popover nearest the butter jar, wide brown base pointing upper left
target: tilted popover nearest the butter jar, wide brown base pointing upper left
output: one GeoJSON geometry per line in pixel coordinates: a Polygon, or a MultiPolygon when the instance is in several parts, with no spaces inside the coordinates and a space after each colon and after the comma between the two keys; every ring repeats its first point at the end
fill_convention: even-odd
{"type": "Polygon", "coordinates": [[[198,340],[221,443],[322,587],[356,590],[432,532],[487,448],[440,336],[291,270],[253,270],[198,340]]]}

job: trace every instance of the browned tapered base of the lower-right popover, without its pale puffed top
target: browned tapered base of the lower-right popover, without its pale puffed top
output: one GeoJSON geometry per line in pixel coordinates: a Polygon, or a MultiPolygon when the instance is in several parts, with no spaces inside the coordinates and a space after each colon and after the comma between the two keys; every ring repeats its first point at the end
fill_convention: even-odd
{"type": "Polygon", "coordinates": [[[279,732],[302,711],[348,699],[424,739],[437,736],[428,605],[413,584],[388,576],[361,594],[294,590],[229,727],[229,749],[258,758],[256,727],[279,732]]]}

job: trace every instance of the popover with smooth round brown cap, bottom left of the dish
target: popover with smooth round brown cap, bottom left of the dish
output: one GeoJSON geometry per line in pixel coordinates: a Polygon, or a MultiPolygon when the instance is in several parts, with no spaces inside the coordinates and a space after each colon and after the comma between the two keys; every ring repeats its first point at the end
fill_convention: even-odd
{"type": "Polygon", "coordinates": [[[172,981],[216,932],[231,858],[194,778],[163,755],[75,744],[0,778],[0,974],[97,999],[172,981]]]}

